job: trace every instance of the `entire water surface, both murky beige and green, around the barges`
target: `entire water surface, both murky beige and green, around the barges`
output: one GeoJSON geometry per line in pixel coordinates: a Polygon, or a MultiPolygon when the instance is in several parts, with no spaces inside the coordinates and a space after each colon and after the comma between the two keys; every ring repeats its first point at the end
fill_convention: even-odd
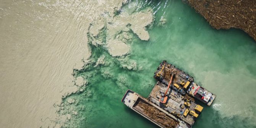
{"type": "MultiPolygon", "coordinates": [[[[74,92],[78,93],[64,98],[57,112],[60,118],[56,119],[56,123],[63,123],[67,118],[69,121],[65,122],[63,127],[154,128],[156,125],[130,110],[120,100],[127,89],[147,97],[156,83],[153,78],[154,71],[162,60],[167,60],[194,76],[197,83],[217,95],[212,106],[203,105],[204,110],[193,128],[256,127],[256,43],[251,37],[237,29],[212,29],[202,16],[181,0],[133,0],[124,5],[120,12],[104,15],[101,13],[105,10],[119,10],[121,5],[121,2],[116,3],[115,0],[108,5],[105,5],[103,0],[56,0],[17,1],[13,2],[15,8],[6,5],[11,6],[9,9],[2,9],[0,6],[0,23],[3,23],[1,27],[6,30],[0,36],[3,37],[0,39],[1,44],[6,44],[1,49],[0,57],[5,59],[10,54],[10,57],[19,58],[15,61],[13,58],[1,59],[4,62],[3,66],[8,67],[3,68],[5,75],[1,74],[2,83],[5,83],[6,88],[10,88],[10,94],[17,94],[12,95],[16,97],[14,100],[8,100],[12,96],[9,96],[7,91],[0,94],[1,97],[6,97],[8,93],[9,97],[3,98],[6,103],[3,105],[7,108],[5,113],[14,112],[10,114],[11,116],[8,115],[8,118],[18,117],[15,120],[8,120],[2,114],[1,117],[6,120],[4,124],[12,121],[14,123],[11,123],[10,127],[33,127],[39,126],[35,122],[40,119],[41,122],[54,122],[48,117],[51,112],[51,118],[54,119],[56,109],[53,109],[52,105],[61,101],[58,92],[64,93],[63,85],[69,87],[74,80],[76,85],[73,86],[79,87],[79,90],[74,92]],[[15,13],[11,13],[12,9],[15,13]],[[141,14],[140,11],[144,11],[145,14],[151,10],[154,14],[153,24],[147,26],[149,23],[143,23],[147,26],[146,30],[150,36],[148,38],[144,26],[140,26],[139,31],[135,31],[137,27],[132,29],[132,25],[137,25],[136,19],[132,18],[135,16],[138,19],[136,16],[141,14]],[[106,16],[108,18],[104,18],[106,16]],[[126,16],[131,18],[125,19],[126,16]],[[109,26],[97,23],[98,18],[104,19],[102,22],[109,26]],[[113,19],[117,24],[134,24],[122,24],[122,29],[126,29],[123,31],[115,24],[107,22],[113,19]],[[19,22],[24,23],[23,26],[19,22]],[[13,25],[9,26],[9,23],[13,25]],[[95,28],[101,28],[102,32],[90,28],[93,25],[95,28]],[[112,30],[111,25],[114,28],[112,30]],[[111,32],[113,36],[109,36],[111,32]],[[144,38],[141,32],[146,33],[144,38]],[[87,35],[88,33],[99,41],[92,42],[93,39],[87,35]],[[121,36],[118,36],[119,34],[121,36]],[[86,43],[87,37],[90,37],[89,47],[86,43]],[[102,46],[108,39],[125,40],[123,43],[129,46],[129,49],[119,52],[120,55],[128,55],[112,57],[107,47],[102,46]],[[9,45],[10,50],[7,49],[9,45]],[[82,69],[72,70],[71,67],[77,61],[81,62],[84,56],[90,55],[91,58],[86,60],[87,63],[82,69]],[[31,60],[34,62],[30,63],[31,60]],[[8,66],[10,63],[13,66],[8,66]],[[71,76],[72,72],[74,79],[71,76]],[[21,81],[24,76],[26,79],[21,81]],[[44,85],[49,87],[43,88],[44,85]],[[28,93],[31,90],[32,94],[28,93]],[[19,97],[19,93],[22,97],[19,97]],[[42,94],[36,95],[39,93],[42,94]],[[34,98],[35,96],[39,98],[34,98]],[[52,100],[54,97],[58,100],[52,100]],[[23,100],[24,102],[20,102],[23,100]],[[15,104],[18,102],[21,104],[15,104]],[[19,109],[9,109],[9,106],[15,106],[13,104],[20,105],[19,109]],[[45,114],[45,106],[52,107],[48,115],[45,114]],[[33,114],[26,116],[31,112],[31,108],[34,108],[33,114]],[[23,121],[19,118],[23,118],[23,121]]],[[[151,20],[149,21],[151,23],[151,20]]],[[[69,91],[72,93],[73,90],[69,91]]]]}

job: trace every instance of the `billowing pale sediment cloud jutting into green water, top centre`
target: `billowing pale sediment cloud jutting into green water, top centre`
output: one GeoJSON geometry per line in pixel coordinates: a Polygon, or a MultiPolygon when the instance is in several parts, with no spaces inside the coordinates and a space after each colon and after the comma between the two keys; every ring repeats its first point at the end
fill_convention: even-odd
{"type": "Polygon", "coordinates": [[[113,57],[124,57],[130,50],[128,41],[131,39],[131,32],[139,39],[148,41],[149,33],[146,27],[153,22],[153,19],[151,8],[132,14],[122,12],[115,17],[100,16],[90,24],[89,37],[96,47],[99,45],[107,47],[113,57]],[[102,36],[104,34],[106,38],[102,36]]]}

